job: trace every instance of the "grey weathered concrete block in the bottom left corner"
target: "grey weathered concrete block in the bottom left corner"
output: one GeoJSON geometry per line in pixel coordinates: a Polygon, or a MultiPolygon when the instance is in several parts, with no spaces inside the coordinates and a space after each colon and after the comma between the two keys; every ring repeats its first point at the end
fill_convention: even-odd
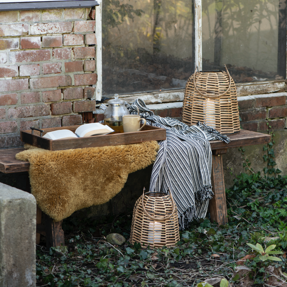
{"type": "Polygon", "coordinates": [[[35,287],[35,197],[0,182],[0,219],[0,287],[35,287]]]}

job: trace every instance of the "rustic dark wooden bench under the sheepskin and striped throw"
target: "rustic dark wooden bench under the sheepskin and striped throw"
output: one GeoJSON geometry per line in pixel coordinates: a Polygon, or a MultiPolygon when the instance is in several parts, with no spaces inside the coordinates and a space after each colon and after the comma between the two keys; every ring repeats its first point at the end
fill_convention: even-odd
{"type": "MultiPolygon", "coordinates": [[[[230,142],[224,143],[220,140],[210,141],[212,149],[212,174],[211,182],[214,192],[209,202],[211,220],[218,224],[227,223],[227,207],[225,199],[224,174],[222,156],[228,148],[243,147],[255,144],[266,144],[271,140],[270,135],[259,132],[240,130],[239,133],[229,135],[230,142]]],[[[24,148],[0,150],[0,171],[2,173],[17,173],[29,171],[29,162],[15,159],[15,155],[24,148]]],[[[37,232],[46,236],[47,248],[64,245],[64,232],[62,221],[53,222],[52,218],[45,215],[45,226],[41,225],[41,210],[37,210],[37,232]]],[[[38,236],[39,237],[39,236],[38,236]]],[[[38,239],[39,240],[39,239],[38,239]]]]}

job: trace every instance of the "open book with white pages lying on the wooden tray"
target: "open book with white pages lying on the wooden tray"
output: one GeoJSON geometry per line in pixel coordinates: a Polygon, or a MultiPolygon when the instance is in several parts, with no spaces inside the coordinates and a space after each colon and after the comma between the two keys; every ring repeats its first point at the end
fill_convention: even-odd
{"type": "Polygon", "coordinates": [[[105,135],[110,132],[114,132],[112,128],[108,125],[103,125],[100,123],[90,123],[80,125],[75,133],[68,129],[56,130],[52,132],[47,132],[43,137],[50,140],[60,140],[60,139],[72,139],[84,136],[96,136],[96,135],[105,135]]]}

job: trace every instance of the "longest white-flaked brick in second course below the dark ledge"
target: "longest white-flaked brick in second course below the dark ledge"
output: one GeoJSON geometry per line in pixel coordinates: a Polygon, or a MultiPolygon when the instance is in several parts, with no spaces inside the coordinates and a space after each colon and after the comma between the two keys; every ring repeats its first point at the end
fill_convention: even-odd
{"type": "MultiPolygon", "coordinates": [[[[31,25],[31,35],[70,33],[72,32],[72,22],[38,23],[31,25]]],[[[17,36],[17,35],[16,35],[17,36]]]]}

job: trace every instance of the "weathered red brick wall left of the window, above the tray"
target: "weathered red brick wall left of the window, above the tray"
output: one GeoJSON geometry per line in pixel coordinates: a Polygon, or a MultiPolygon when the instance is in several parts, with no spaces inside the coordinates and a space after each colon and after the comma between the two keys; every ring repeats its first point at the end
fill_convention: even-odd
{"type": "Polygon", "coordinates": [[[0,148],[95,110],[94,9],[0,12],[0,148]]]}

